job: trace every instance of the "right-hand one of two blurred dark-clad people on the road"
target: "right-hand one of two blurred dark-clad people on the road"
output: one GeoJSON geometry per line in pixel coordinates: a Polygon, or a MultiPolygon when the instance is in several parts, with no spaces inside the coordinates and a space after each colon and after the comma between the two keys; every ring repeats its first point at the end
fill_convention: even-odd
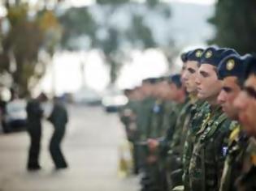
{"type": "Polygon", "coordinates": [[[67,168],[67,162],[60,149],[60,143],[65,135],[68,121],[67,109],[63,102],[57,97],[54,98],[54,108],[48,120],[54,125],[54,134],[50,139],[50,155],[57,170],[67,168]]]}

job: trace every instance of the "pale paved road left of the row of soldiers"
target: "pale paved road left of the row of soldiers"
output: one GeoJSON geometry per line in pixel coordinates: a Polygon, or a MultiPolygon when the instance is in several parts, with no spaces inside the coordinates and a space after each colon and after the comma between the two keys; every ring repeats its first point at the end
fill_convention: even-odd
{"type": "Polygon", "coordinates": [[[48,142],[52,128],[44,123],[41,172],[26,172],[28,135],[0,135],[0,191],[137,191],[136,177],[118,176],[118,146],[124,140],[116,115],[102,108],[70,107],[71,121],[63,142],[70,164],[55,172],[48,142]]]}

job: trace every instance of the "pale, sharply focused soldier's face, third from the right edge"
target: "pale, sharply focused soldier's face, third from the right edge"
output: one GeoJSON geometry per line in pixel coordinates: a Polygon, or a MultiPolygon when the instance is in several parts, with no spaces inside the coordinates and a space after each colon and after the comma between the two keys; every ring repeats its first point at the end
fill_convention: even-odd
{"type": "Polygon", "coordinates": [[[221,81],[217,78],[215,67],[202,64],[197,73],[197,97],[201,100],[216,100],[221,90],[221,81]]]}

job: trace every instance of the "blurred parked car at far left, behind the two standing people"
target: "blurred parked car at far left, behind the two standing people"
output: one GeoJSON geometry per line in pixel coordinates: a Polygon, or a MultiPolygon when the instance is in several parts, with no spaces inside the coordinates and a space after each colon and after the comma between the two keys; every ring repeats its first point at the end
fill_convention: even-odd
{"type": "Polygon", "coordinates": [[[22,129],[27,124],[26,100],[12,100],[7,103],[3,129],[6,132],[22,129]]]}

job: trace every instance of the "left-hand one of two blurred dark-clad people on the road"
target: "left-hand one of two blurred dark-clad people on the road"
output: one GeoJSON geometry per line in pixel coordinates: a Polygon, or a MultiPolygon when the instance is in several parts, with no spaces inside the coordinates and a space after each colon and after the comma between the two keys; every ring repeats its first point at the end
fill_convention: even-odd
{"type": "Polygon", "coordinates": [[[47,97],[41,93],[37,99],[28,100],[26,111],[28,114],[28,135],[30,138],[30,146],[28,151],[28,171],[39,170],[40,142],[41,142],[41,118],[43,117],[43,110],[41,103],[46,101],[47,97]]]}

